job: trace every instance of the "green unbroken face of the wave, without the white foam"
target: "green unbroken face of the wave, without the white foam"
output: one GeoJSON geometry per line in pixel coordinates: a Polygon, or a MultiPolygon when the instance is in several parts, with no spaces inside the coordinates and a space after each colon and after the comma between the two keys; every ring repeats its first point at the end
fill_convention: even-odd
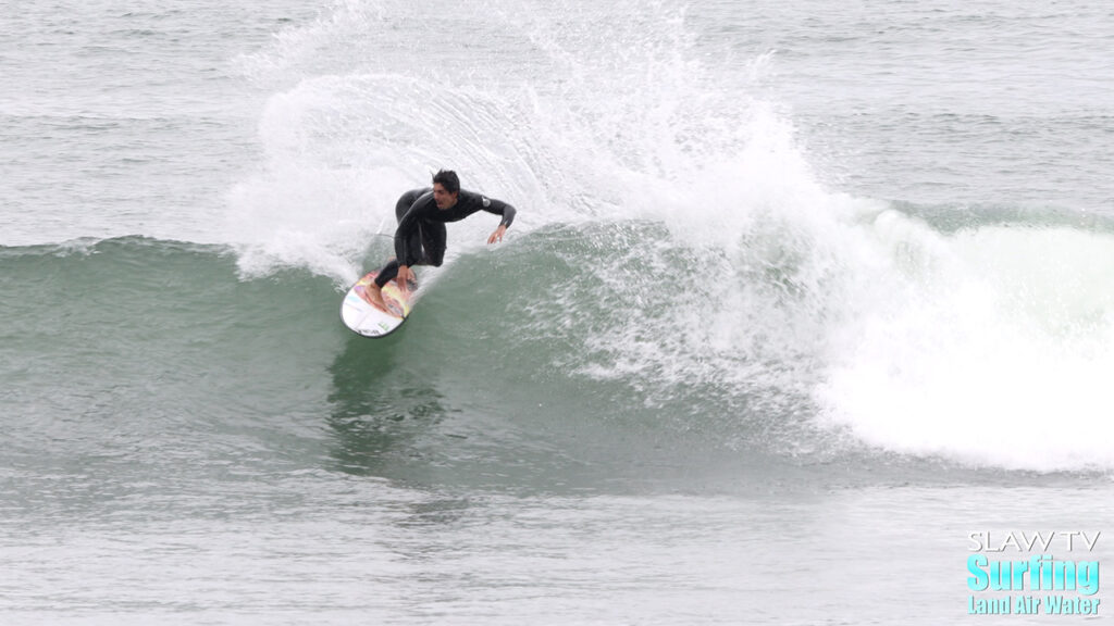
{"type": "MultiPolygon", "coordinates": [[[[639,278],[645,263],[695,254],[671,241],[654,223],[551,226],[497,254],[466,253],[424,275],[404,331],[383,340],[341,325],[333,280],[246,277],[223,246],[125,237],[3,248],[0,413],[13,466],[28,471],[9,488],[57,507],[68,500],[43,496],[43,481],[75,467],[121,495],[276,467],[516,493],[971,479],[946,458],[895,456],[825,426],[815,399],[783,383],[809,374],[801,361],[818,355],[807,346],[732,355],[729,365],[774,373],[726,378],[724,354],[671,320],[694,299],[713,307],[714,292],[639,278]],[[632,257],[633,242],[656,242],[661,257],[632,257]]],[[[786,297],[786,275],[765,280],[786,297]]]]}

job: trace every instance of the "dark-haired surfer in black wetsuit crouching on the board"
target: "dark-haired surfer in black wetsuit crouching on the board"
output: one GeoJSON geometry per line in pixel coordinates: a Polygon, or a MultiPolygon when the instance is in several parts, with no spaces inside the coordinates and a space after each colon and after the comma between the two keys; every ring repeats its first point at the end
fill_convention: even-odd
{"type": "Polygon", "coordinates": [[[414,282],[414,265],[440,267],[444,260],[447,234],[444,224],[459,222],[477,211],[501,215],[502,221],[488,243],[502,241],[502,235],[515,221],[515,207],[460,188],[460,178],[451,169],[442,169],[433,175],[433,187],[412,189],[399,198],[394,205],[394,216],[399,227],[394,231],[394,258],[390,260],[372,284],[368,285],[367,297],[375,306],[387,310],[380,293],[389,281],[395,280],[400,290],[414,282]]]}

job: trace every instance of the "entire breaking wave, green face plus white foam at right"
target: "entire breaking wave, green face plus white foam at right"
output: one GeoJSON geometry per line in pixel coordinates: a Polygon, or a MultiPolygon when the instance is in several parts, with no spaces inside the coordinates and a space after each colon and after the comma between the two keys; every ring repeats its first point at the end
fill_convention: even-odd
{"type": "Polygon", "coordinates": [[[848,234],[729,253],[656,221],[539,226],[427,273],[383,341],[343,330],[332,278],[247,277],[225,246],[2,248],[6,413],[40,420],[12,426],[17,450],[46,423],[79,456],[219,450],[276,420],[296,449],[324,419],[334,444],[312,453],[345,471],[481,485],[1108,471],[1108,438],[1071,436],[1106,432],[1107,235],[944,234],[893,209],[842,227],[846,257],[848,234]]]}

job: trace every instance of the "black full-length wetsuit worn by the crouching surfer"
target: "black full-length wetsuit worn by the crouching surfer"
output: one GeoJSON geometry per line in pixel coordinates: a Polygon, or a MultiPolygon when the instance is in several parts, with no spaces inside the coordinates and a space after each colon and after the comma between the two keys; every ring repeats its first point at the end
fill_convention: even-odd
{"type": "Polygon", "coordinates": [[[443,211],[433,202],[430,187],[402,194],[394,205],[394,216],[399,219],[399,228],[394,232],[394,258],[379,271],[375,284],[382,287],[394,280],[399,275],[400,262],[408,267],[439,267],[444,260],[444,224],[459,222],[477,211],[501,215],[499,224],[502,226],[509,227],[515,221],[515,207],[465,189],[460,189],[457,204],[443,211]]]}

